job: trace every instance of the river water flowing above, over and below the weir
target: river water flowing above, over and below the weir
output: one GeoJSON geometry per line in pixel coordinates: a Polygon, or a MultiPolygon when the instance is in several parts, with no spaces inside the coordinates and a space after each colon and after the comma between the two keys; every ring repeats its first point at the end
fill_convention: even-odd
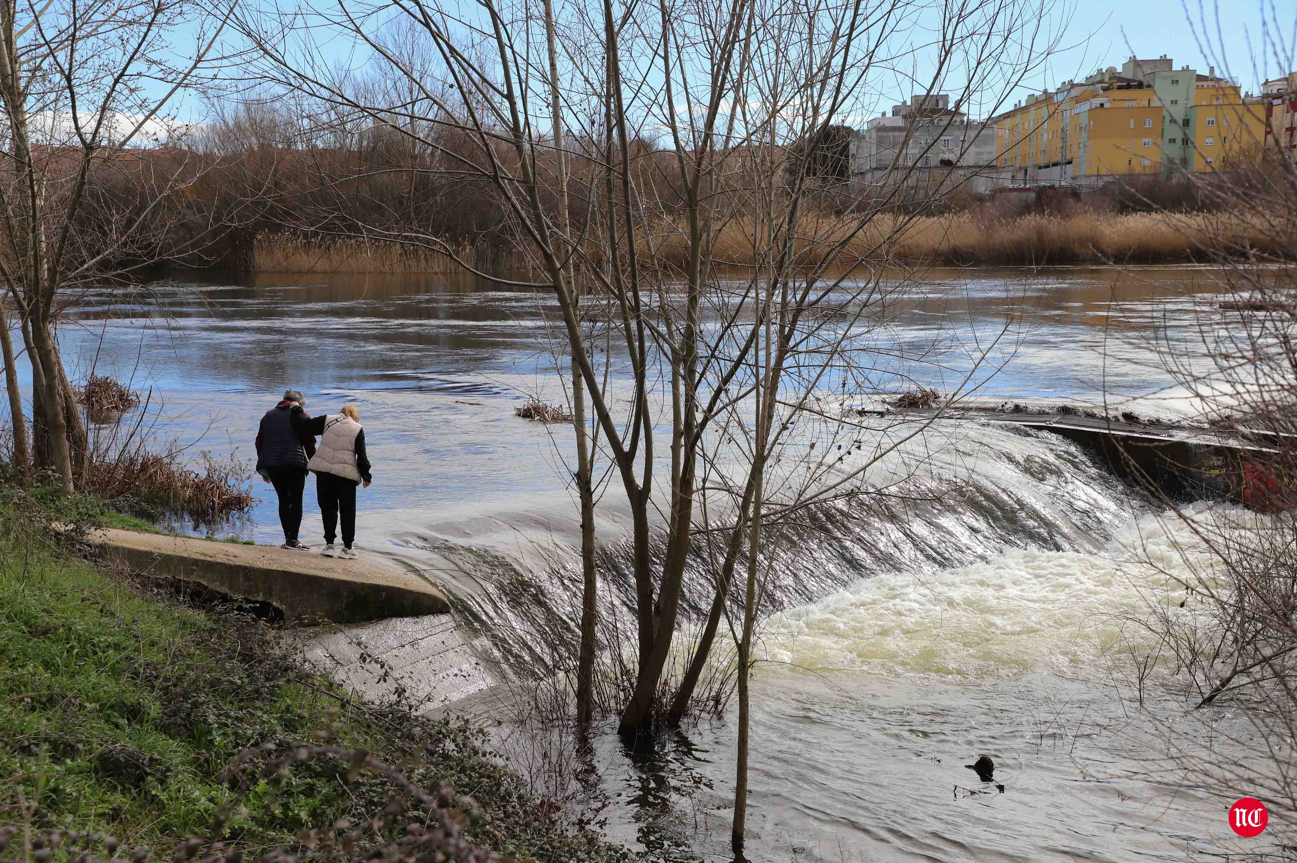
{"type": "MultiPolygon", "coordinates": [[[[1139,398],[1145,413],[1179,411],[1160,349],[1192,340],[1185,297],[1213,291],[1210,271],[1188,267],[938,273],[910,292],[888,346],[938,358],[917,367],[917,383],[948,391],[969,346],[1004,334],[994,353],[1008,363],[983,376],[983,398],[1139,398]]],[[[472,282],[202,276],[87,297],[62,341],[74,375],[95,369],[152,389],[156,433],[195,449],[250,457],[257,420],[287,387],[305,391],[313,413],[358,404],[375,472],[361,493],[362,554],[416,568],[428,549],[451,557],[472,577],[449,587],[502,633],[492,649],[525,654],[545,615],[569,614],[578,589],[571,441],[512,410],[525,395],[558,396],[553,311],[545,295],[472,282]]],[[[796,554],[774,562],[782,611],[761,627],[750,855],[1178,860],[1236,850],[1231,801],[1158,768],[1161,737],[1110,662],[1137,638],[1123,616],[1165,589],[1132,542],[1174,540],[1062,439],[961,422],[922,446],[913,481],[939,497],[820,507],[796,554]],[[978,753],[996,759],[1003,793],[981,793],[964,768],[978,753]]],[[[278,542],[274,496],[259,491],[235,529],[278,542]]],[[[615,536],[616,501],[604,509],[603,535],[615,536]]],[[[307,500],[303,539],[315,519],[307,500]]],[[[625,593],[615,550],[610,559],[604,577],[625,593]]],[[[686,610],[696,611],[708,596],[689,584],[686,610]]],[[[381,637],[405,648],[424,624],[393,626],[381,637]]],[[[475,683],[445,693],[492,683],[480,666],[466,675],[475,683]]],[[[1145,703],[1182,712],[1165,688],[1145,703]]],[[[588,811],[655,857],[726,859],[732,748],[730,722],[652,753],[599,736],[582,773],[588,811]]]]}

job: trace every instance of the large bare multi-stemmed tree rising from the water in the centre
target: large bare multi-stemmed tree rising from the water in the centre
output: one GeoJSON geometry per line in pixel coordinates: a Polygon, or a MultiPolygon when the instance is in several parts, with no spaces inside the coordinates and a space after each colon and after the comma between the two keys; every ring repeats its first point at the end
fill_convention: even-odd
{"type": "MultiPolygon", "coordinates": [[[[630,513],[638,662],[621,707],[624,733],[678,719],[689,703],[685,692],[667,710],[663,687],[704,479],[721,465],[733,472],[737,463],[746,478],[739,487],[751,485],[735,496],[741,517],[730,545],[759,541],[743,513],[767,497],[757,489],[767,488],[763,465],[778,435],[768,428],[752,450],[764,454],[754,458],[726,430],[730,419],[754,398],[764,405],[744,422],[759,427],[778,418],[791,428],[800,414],[825,410],[811,393],[844,385],[853,371],[866,376],[873,346],[853,327],[885,317],[885,300],[899,289],[886,271],[910,223],[892,206],[899,199],[830,212],[824,182],[807,170],[813,148],[790,154],[789,145],[863,115],[873,93],[898,80],[994,110],[1052,47],[1041,29],[1048,10],[1026,0],[794,8],[406,0],[280,5],[243,17],[267,82],[436,154],[405,170],[489,183],[534,262],[514,283],[554,292],[593,426],[578,423],[578,440],[610,461],[630,513]],[[379,25],[396,22],[419,30],[437,70],[390,47],[379,25]],[[376,75],[414,87],[423,106],[355,87],[350,70],[320,60],[320,32],[345,34],[370,52],[376,75]],[[922,79],[914,69],[925,70],[922,79]],[[737,276],[735,263],[746,265],[737,276]],[[591,315],[602,343],[584,326],[591,315]],[[606,362],[617,354],[628,388],[601,374],[595,350],[607,352],[606,362]],[[759,361],[769,365],[765,378],[752,376],[759,361]],[[800,387],[791,396],[790,369],[800,387]],[[729,449],[725,458],[717,446],[729,449]]],[[[960,182],[949,171],[933,191],[960,182]]],[[[419,225],[353,230],[457,254],[419,225]]],[[[798,494],[777,488],[778,500],[796,510],[868,491],[864,466],[831,479],[827,467],[803,471],[798,494]]],[[[589,476],[578,465],[589,526],[582,471],[589,476]]],[[[590,539],[582,557],[593,601],[590,539]]],[[[719,584],[717,620],[728,594],[719,584]]],[[[694,662],[706,662],[709,649],[700,645],[694,662]]]]}

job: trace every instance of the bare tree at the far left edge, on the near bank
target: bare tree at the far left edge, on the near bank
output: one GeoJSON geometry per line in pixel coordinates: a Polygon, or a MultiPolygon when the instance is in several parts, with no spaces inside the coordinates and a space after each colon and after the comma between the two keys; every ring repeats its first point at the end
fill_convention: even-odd
{"type": "MultiPolygon", "coordinates": [[[[32,369],[35,462],[65,492],[87,449],[56,332],[66,292],[169,256],[160,218],[198,170],[174,147],[173,103],[211,65],[223,23],[188,0],[0,3],[0,279],[32,369]],[[195,29],[185,43],[197,35],[189,55],[180,26],[195,29]]],[[[9,401],[17,437],[13,385],[9,401]]]]}

